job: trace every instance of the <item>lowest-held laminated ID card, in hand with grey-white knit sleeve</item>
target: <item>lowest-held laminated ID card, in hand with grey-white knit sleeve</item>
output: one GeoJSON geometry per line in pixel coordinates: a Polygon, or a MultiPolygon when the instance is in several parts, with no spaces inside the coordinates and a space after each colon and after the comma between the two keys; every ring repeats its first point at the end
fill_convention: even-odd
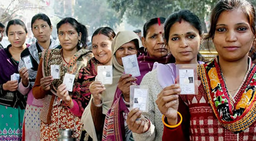
{"type": "Polygon", "coordinates": [[[130,86],[130,109],[138,108],[143,112],[148,112],[148,86],[130,86]]]}

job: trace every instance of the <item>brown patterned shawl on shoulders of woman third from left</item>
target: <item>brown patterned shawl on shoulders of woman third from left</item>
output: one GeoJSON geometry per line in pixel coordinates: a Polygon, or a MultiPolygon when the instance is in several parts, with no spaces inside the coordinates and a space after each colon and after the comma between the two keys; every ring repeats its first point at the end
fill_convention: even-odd
{"type": "MultiPolygon", "coordinates": [[[[61,56],[62,49],[46,49],[42,54],[42,73],[43,77],[50,76],[50,65],[59,65],[60,66],[60,79],[54,79],[52,85],[50,86],[50,91],[53,94],[47,94],[45,97],[45,102],[43,104],[43,111],[40,115],[42,122],[46,124],[50,124],[50,117],[49,111],[52,111],[52,100],[56,98],[56,92],[58,90],[58,86],[62,84],[65,73],[74,74],[76,75],[75,81],[78,78],[78,71],[87,65],[87,62],[93,57],[91,51],[86,49],[78,50],[73,57],[69,60],[69,63],[64,66],[62,63],[62,56],[61,56]]],[[[74,82],[75,84],[75,82],[74,82]]],[[[81,95],[78,93],[70,93],[72,99],[81,99],[81,95]]],[[[81,103],[78,103],[79,106],[81,103]]]]}

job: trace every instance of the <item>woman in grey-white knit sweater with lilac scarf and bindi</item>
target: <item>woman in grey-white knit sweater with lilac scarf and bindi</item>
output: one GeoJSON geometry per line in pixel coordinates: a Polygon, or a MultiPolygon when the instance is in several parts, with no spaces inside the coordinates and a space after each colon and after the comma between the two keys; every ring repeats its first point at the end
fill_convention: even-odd
{"type": "MultiPolygon", "coordinates": [[[[165,38],[175,57],[175,64],[201,63],[197,62],[197,54],[202,38],[202,26],[194,13],[181,10],[171,14],[165,23],[165,38]]],[[[127,117],[128,127],[132,130],[135,140],[161,141],[163,123],[161,113],[155,105],[156,94],[165,90],[166,86],[174,84],[175,64],[156,63],[156,69],[144,76],[141,85],[149,87],[149,110],[142,114],[140,110],[133,109],[127,117]],[[135,121],[137,118],[140,120],[135,121]]]]}

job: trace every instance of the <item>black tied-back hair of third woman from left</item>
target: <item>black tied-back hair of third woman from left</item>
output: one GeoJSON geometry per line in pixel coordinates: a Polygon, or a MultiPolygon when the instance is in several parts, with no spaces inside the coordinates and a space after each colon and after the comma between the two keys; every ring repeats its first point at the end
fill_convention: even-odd
{"type": "Polygon", "coordinates": [[[79,33],[82,34],[81,42],[80,42],[80,44],[78,43],[77,49],[79,50],[81,48],[86,48],[87,47],[86,41],[87,41],[87,37],[88,37],[87,28],[83,24],[77,22],[76,19],[67,17],[67,18],[60,20],[60,22],[57,24],[57,33],[59,33],[60,26],[65,23],[71,24],[76,29],[78,35],[79,35],[79,33]]]}

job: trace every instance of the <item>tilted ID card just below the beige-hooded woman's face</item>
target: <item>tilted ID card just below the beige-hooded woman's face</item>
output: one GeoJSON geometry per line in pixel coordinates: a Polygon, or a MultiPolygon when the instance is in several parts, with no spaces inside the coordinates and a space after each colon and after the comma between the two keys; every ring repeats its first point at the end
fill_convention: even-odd
{"type": "Polygon", "coordinates": [[[133,77],[141,76],[136,54],[122,57],[122,62],[125,74],[131,74],[133,77]]]}

